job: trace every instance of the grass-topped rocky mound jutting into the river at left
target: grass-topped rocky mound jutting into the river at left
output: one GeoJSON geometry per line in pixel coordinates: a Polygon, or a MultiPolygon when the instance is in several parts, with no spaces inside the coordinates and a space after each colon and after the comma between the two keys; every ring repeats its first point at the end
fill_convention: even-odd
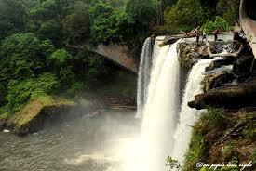
{"type": "Polygon", "coordinates": [[[65,99],[52,99],[47,103],[35,99],[9,118],[7,126],[17,135],[26,135],[42,129],[47,118],[52,119],[73,109],[74,103],[65,99]]]}

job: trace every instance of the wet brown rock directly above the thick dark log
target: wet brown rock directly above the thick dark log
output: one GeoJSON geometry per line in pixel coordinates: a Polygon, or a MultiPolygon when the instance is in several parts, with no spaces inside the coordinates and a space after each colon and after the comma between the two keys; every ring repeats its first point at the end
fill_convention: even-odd
{"type": "Polygon", "coordinates": [[[230,83],[235,79],[235,75],[229,72],[218,72],[207,75],[204,78],[204,92],[217,87],[221,87],[223,84],[230,83]]]}

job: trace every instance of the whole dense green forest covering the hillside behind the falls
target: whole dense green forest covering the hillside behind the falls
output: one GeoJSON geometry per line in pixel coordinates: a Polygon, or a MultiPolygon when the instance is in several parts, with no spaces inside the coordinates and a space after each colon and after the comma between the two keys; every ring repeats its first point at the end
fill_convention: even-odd
{"type": "Polygon", "coordinates": [[[114,64],[71,46],[125,44],[139,58],[155,32],[229,31],[238,8],[239,0],[0,0],[0,114],[111,82],[114,64]]]}

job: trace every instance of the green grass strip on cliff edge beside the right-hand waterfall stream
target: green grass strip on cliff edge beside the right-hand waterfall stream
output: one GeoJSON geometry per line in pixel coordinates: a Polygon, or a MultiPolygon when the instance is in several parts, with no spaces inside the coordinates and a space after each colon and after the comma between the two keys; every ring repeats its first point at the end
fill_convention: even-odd
{"type": "Polygon", "coordinates": [[[200,170],[195,167],[196,163],[208,161],[210,142],[214,142],[214,139],[220,136],[216,132],[221,132],[218,130],[222,130],[227,122],[228,119],[224,116],[224,112],[219,109],[209,108],[208,112],[201,115],[194,126],[183,171],[200,170]]]}

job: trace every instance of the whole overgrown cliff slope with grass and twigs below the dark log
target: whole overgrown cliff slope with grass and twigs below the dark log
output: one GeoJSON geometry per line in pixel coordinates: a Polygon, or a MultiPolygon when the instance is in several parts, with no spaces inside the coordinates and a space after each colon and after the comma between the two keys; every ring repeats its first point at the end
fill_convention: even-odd
{"type": "MultiPolygon", "coordinates": [[[[255,111],[225,112],[209,108],[194,126],[183,170],[209,169],[198,166],[199,163],[255,163],[255,134],[255,111]]],[[[253,170],[252,167],[247,169],[253,170]]],[[[217,170],[238,170],[238,167],[219,167],[217,170]]]]}

